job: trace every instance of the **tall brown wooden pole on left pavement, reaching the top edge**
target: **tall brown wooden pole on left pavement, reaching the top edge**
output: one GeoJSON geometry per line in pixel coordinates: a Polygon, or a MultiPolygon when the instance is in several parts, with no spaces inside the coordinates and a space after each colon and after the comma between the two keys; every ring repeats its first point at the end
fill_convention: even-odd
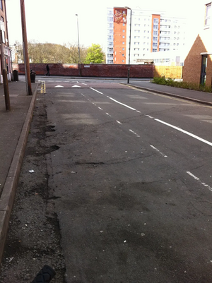
{"type": "Polygon", "coordinates": [[[20,0],[20,13],[21,13],[21,25],[22,25],[22,37],[23,37],[23,58],[25,65],[25,83],[27,88],[27,95],[33,95],[32,85],[30,80],[30,63],[28,56],[28,39],[25,25],[25,5],[24,0],[20,0]]]}

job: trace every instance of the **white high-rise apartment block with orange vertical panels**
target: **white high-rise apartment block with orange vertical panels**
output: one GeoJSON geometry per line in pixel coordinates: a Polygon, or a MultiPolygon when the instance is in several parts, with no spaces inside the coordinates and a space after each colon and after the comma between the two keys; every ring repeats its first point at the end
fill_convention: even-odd
{"type": "Polygon", "coordinates": [[[129,40],[130,64],[151,59],[153,52],[179,52],[185,44],[185,28],[184,18],[170,17],[165,12],[107,8],[106,63],[128,64],[129,40]]]}

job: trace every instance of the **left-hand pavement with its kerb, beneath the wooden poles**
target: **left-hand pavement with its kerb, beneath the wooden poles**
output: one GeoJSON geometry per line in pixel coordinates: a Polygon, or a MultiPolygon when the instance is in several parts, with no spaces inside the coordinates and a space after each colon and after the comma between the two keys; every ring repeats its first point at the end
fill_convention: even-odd
{"type": "Polygon", "coordinates": [[[27,95],[25,82],[9,82],[11,111],[6,112],[4,85],[0,85],[0,263],[13,199],[28,140],[38,83],[27,95]]]}

